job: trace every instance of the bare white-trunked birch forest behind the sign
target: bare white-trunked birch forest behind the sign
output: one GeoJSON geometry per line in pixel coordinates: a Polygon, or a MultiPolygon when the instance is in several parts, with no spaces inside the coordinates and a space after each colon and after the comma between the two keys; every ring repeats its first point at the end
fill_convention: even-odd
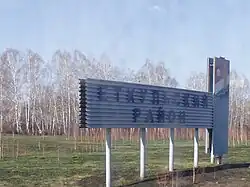
{"type": "MultiPolygon", "coordinates": [[[[230,59],[229,59],[230,60],[230,59]]],[[[167,62],[166,62],[167,64],[167,62]]],[[[135,71],[113,64],[107,56],[90,58],[84,53],[56,51],[46,61],[32,50],[6,49],[0,53],[0,131],[1,134],[87,135],[104,137],[101,129],[79,129],[79,78],[132,81],[180,87],[164,62],[145,60],[135,71]]],[[[204,62],[204,66],[206,62],[204,62]]],[[[206,72],[192,72],[185,88],[207,90],[206,72]]],[[[250,139],[250,85],[237,71],[230,75],[230,140],[250,139]]],[[[115,138],[132,138],[137,129],[115,129],[115,138]]],[[[168,136],[168,129],[150,129],[152,139],[168,136]]],[[[190,139],[193,129],[177,129],[176,136],[190,139]]],[[[200,133],[204,139],[204,130],[200,133]]]]}

